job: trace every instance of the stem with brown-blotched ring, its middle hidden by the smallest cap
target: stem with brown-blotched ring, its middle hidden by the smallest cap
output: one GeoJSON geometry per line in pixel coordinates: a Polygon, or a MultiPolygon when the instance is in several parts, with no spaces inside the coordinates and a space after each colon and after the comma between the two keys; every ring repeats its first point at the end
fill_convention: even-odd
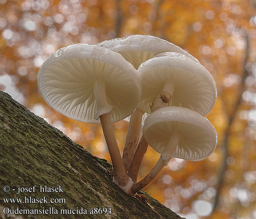
{"type": "MultiPolygon", "coordinates": [[[[166,81],[164,83],[162,91],[157,93],[155,99],[153,100],[150,106],[152,113],[161,107],[166,107],[170,105],[174,88],[175,84],[172,81],[166,81]]],[[[132,178],[133,182],[137,181],[137,176],[141,167],[141,162],[148,148],[148,143],[144,139],[143,135],[141,137],[141,140],[143,141],[140,141],[137,150],[134,154],[133,161],[128,170],[128,176],[132,178]]]]}

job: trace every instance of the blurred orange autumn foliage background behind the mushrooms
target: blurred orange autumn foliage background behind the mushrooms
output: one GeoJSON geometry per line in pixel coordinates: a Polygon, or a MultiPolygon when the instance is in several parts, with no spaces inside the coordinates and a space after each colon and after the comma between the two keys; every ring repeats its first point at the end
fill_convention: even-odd
{"type": "MultiPolygon", "coordinates": [[[[0,89],[110,161],[101,126],[51,109],[37,90],[36,74],[61,47],[132,34],[186,49],[218,90],[207,116],[218,134],[216,151],[200,162],[171,159],[145,191],[187,219],[255,219],[255,0],[0,0],[0,89]]],[[[122,151],[128,123],[113,126],[122,151]]],[[[140,177],[158,158],[148,148],[140,177]]]]}

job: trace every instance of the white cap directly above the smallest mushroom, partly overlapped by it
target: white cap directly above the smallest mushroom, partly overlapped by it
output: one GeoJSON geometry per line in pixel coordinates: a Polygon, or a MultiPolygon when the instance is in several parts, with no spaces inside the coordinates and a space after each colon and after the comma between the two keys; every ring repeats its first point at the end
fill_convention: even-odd
{"type": "Polygon", "coordinates": [[[142,94],[138,109],[151,113],[150,105],[164,83],[175,84],[172,106],[182,106],[207,115],[216,102],[213,76],[202,64],[181,53],[159,53],[138,68],[142,94]]]}

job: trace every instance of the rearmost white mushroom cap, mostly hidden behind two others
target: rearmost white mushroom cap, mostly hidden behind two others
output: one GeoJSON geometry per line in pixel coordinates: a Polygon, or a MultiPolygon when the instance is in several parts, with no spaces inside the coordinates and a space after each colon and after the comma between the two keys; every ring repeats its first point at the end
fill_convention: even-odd
{"type": "Polygon", "coordinates": [[[105,40],[97,43],[97,45],[120,53],[136,69],[144,61],[153,58],[155,54],[163,52],[181,53],[198,62],[195,57],[179,46],[150,35],[130,35],[128,37],[105,40]]]}

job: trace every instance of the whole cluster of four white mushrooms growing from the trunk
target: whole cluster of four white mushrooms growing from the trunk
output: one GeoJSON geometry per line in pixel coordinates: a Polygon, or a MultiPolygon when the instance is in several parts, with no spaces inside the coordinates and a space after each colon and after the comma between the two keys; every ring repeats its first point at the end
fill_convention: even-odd
{"type": "Polygon", "coordinates": [[[43,99],[58,112],[101,123],[113,181],[131,196],[172,157],[198,161],[216,147],[216,131],[204,117],[216,102],[213,77],[195,57],[166,40],[131,35],[67,46],[48,57],[37,81],[43,99]],[[121,157],[112,123],[126,117],[130,122],[121,157]],[[161,156],[137,182],[148,145],[161,156]]]}

